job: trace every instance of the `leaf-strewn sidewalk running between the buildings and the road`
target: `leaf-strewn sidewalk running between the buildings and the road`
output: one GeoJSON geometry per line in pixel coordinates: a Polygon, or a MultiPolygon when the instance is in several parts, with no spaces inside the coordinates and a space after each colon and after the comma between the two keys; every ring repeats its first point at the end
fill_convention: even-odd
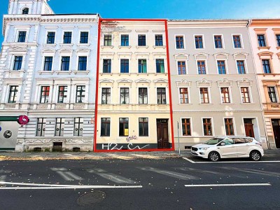
{"type": "MultiPolygon", "coordinates": [[[[134,160],[134,159],[165,159],[190,156],[190,151],[173,152],[124,152],[124,153],[11,153],[1,152],[1,160],[134,160]]],[[[280,150],[265,150],[265,156],[280,156],[280,150]]]]}

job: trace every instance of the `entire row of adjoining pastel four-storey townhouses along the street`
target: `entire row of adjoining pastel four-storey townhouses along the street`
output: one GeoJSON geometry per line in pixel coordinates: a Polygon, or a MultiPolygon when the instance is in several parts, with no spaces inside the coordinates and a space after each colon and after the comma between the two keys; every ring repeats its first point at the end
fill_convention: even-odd
{"type": "Polygon", "coordinates": [[[188,149],[225,135],[280,148],[279,19],[102,19],[18,0],[3,35],[1,150],[188,149]]]}

